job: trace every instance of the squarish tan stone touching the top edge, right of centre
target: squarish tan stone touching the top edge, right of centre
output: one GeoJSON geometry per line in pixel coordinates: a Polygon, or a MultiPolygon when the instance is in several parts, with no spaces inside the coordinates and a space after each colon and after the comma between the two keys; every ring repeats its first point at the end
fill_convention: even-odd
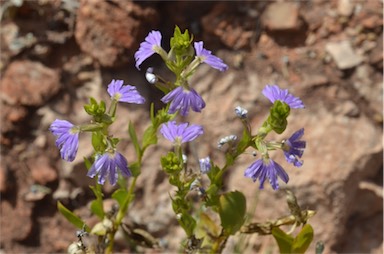
{"type": "Polygon", "coordinates": [[[294,2],[272,3],[263,13],[262,22],[270,31],[298,30],[299,8],[294,2]]]}

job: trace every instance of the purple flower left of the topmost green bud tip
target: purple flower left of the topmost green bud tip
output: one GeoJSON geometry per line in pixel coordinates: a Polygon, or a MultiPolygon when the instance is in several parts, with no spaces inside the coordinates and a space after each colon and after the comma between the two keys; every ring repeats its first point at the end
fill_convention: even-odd
{"type": "Polygon", "coordinates": [[[159,48],[161,48],[161,33],[151,31],[135,53],[136,68],[140,70],[140,65],[154,53],[158,53],[159,48]]]}

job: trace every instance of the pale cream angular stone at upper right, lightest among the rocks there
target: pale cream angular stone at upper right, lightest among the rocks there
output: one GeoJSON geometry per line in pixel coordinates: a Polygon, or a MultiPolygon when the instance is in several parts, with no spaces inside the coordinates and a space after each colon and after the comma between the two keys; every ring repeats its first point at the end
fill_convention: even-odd
{"type": "Polygon", "coordinates": [[[360,55],[354,52],[349,41],[329,42],[325,45],[325,49],[341,70],[355,67],[363,60],[360,55]]]}

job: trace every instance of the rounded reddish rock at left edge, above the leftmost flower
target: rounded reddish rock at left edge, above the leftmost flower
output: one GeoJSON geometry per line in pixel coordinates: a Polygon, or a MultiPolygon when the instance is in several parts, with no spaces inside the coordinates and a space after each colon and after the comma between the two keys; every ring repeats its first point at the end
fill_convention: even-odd
{"type": "Polygon", "coordinates": [[[39,62],[15,61],[0,84],[3,100],[11,105],[41,106],[60,88],[60,75],[39,62]]]}

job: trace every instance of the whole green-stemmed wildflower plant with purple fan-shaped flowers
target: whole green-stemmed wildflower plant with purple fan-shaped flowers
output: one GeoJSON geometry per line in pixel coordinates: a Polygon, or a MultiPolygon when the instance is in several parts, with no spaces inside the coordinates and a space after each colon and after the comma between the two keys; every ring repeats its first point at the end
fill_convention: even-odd
{"type": "MultiPolygon", "coordinates": [[[[56,146],[60,149],[62,159],[73,161],[79,148],[79,136],[83,132],[91,133],[91,145],[94,153],[85,159],[88,168],[87,176],[95,179],[91,186],[95,194],[90,209],[99,217],[100,222],[90,228],[86,223],[58,203],[59,211],[75,226],[82,229],[78,234],[79,241],[71,245],[74,253],[112,253],[114,252],[115,236],[118,230],[123,230],[132,246],[140,244],[132,233],[134,229],[123,225],[123,218],[127,214],[130,204],[135,198],[135,186],[143,170],[143,156],[149,146],[156,145],[159,136],[168,140],[173,149],[165,153],[160,159],[161,169],[166,173],[169,184],[175,191],[170,193],[172,209],[175,219],[185,232],[185,240],[181,247],[186,253],[220,253],[226,247],[229,237],[235,234],[273,235],[281,252],[303,253],[313,238],[313,229],[307,223],[314,215],[314,211],[302,210],[295,195],[287,191],[287,203],[290,215],[265,223],[249,223],[247,221],[247,200],[240,190],[225,191],[224,174],[229,170],[242,170],[244,183],[259,182],[259,188],[267,188],[268,180],[273,190],[286,186],[289,182],[289,170],[271,158],[276,150],[281,150],[288,163],[295,167],[303,164],[302,156],[306,142],[301,140],[304,129],[293,133],[282,141],[269,141],[268,134],[275,132],[282,134],[288,124],[291,109],[302,109],[304,103],[288,90],[277,85],[267,85],[262,94],[272,103],[269,115],[257,129],[251,126],[248,110],[240,106],[235,108],[235,115],[242,123],[243,133],[237,137],[230,133],[218,141],[218,149],[222,149],[225,156],[223,165],[216,164],[209,156],[197,159],[196,169],[187,167],[185,146],[195,142],[204,135],[205,126],[195,123],[180,122],[191,112],[203,113],[206,102],[189,83],[190,78],[201,64],[208,64],[213,69],[224,72],[228,65],[222,59],[204,48],[202,41],[193,42],[188,30],[183,33],[176,26],[170,39],[170,50],[162,48],[162,35],[159,31],[151,31],[140,44],[134,55],[137,69],[152,55],[158,54],[167,68],[174,74],[174,81],[166,81],[156,75],[153,68],[148,68],[145,76],[148,82],[155,85],[164,93],[161,99],[165,106],[155,112],[153,103],[150,110],[150,125],[144,130],[143,136],[138,137],[132,122],[127,122],[128,134],[136,153],[134,161],[127,161],[122,151],[118,151],[119,137],[110,133],[110,126],[115,122],[116,109],[119,103],[143,104],[145,102],[134,86],[124,84],[123,80],[112,80],[107,92],[110,101],[97,102],[90,98],[85,111],[92,117],[86,124],[74,125],[65,120],[55,120],[50,131],[57,137],[56,146]],[[109,104],[107,110],[107,104],[109,104]],[[180,118],[178,116],[183,116],[180,118]],[[256,131],[255,131],[256,130],[256,131]],[[228,149],[224,150],[223,148],[228,149]],[[239,156],[247,156],[247,150],[252,149],[253,155],[259,157],[241,169],[236,168],[239,156]],[[257,152],[256,152],[257,151],[257,152]],[[250,179],[248,179],[250,178],[250,179]],[[103,193],[101,185],[109,181],[116,187],[112,198],[116,200],[118,208],[115,211],[105,211],[103,208],[103,193]],[[283,182],[283,183],[281,183],[283,182]],[[200,199],[188,198],[191,192],[197,192],[200,199]],[[198,209],[196,207],[199,207],[198,209]],[[280,229],[283,225],[292,225],[289,232],[280,229]],[[301,227],[296,236],[291,233],[301,227]],[[98,236],[96,246],[84,244],[85,234],[98,236]],[[135,242],[137,240],[137,242],[135,242]],[[78,252],[76,252],[78,251],[78,252]]],[[[209,103],[209,102],[208,102],[209,103]]],[[[80,147],[81,149],[81,147],[80,147]]],[[[154,169],[151,169],[154,170],[154,169]]],[[[146,247],[159,248],[159,242],[145,232],[146,247]]]]}

